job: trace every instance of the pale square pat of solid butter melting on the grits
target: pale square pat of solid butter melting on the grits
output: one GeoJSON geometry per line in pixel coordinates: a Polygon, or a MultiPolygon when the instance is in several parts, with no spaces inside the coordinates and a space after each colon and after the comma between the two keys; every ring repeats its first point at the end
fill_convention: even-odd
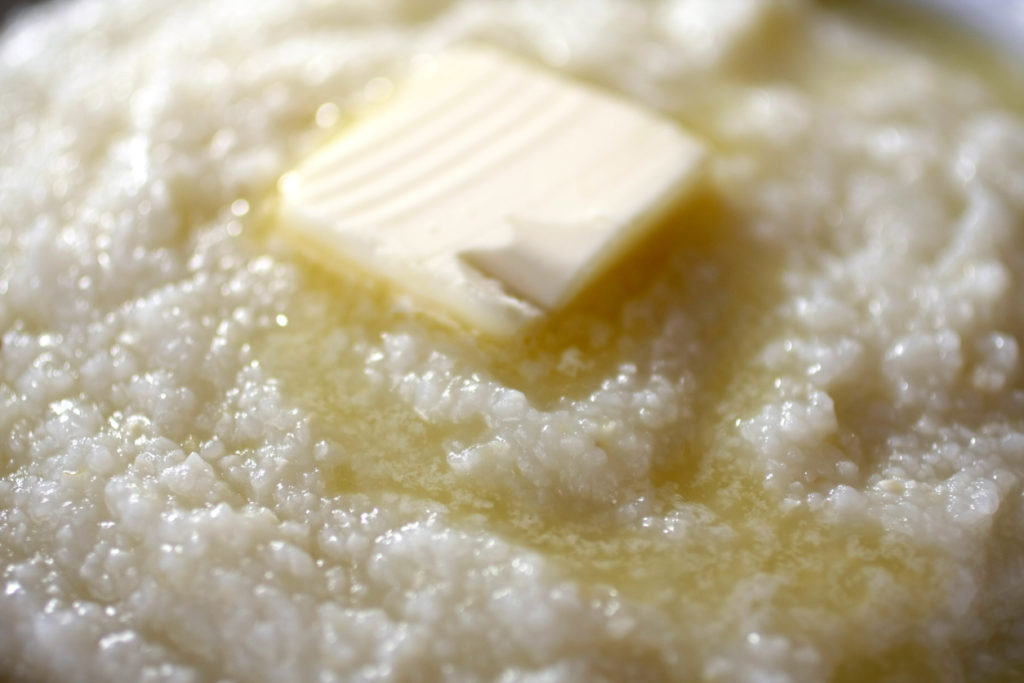
{"type": "Polygon", "coordinates": [[[440,54],[286,173],[312,257],[507,334],[567,303],[695,182],[702,145],[622,98],[484,48],[440,54]]]}

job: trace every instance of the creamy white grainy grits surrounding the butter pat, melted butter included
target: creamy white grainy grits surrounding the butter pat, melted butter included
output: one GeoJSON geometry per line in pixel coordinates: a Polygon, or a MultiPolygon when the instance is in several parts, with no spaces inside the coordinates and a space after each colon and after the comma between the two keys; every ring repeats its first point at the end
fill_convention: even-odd
{"type": "Polygon", "coordinates": [[[23,15],[0,36],[0,672],[1024,677],[1013,69],[803,0],[23,15]],[[272,224],[283,172],[470,41],[710,151],[664,228],[506,341],[272,224]]]}

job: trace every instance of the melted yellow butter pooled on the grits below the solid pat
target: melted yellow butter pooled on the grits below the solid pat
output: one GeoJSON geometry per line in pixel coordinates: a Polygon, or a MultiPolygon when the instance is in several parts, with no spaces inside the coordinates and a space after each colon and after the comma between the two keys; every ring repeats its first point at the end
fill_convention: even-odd
{"type": "MultiPolygon", "coordinates": [[[[382,312],[389,309],[384,289],[311,268],[312,303],[290,311],[286,328],[256,344],[257,355],[313,416],[318,437],[345,454],[324,465],[331,495],[440,503],[453,523],[542,554],[585,591],[611,591],[656,608],[691,647],[759,637],[744,633],[757,614],[766,634],[785,634],[845,660],[840,679],[876,666],[932,672],[913,631],[941,601],[947,581],[941,558],[878,526],[849,529],[805,509],[785,510],[765,490],[756,454],[738,439],[736,418],[749,417],[763,392],[772,391],[753,356],[761,348],[756,340],[774,325],[778,255],[753,246],[741,221],[714,198],[699,199],[676,220],[679,229],[670,226],[548,328],[512,344],[460,337],[429,322],[420,331],[461,352],[466,366],[521,389],[531,403],[552,404],[588,395],[623,360],[615,350],[628,347],[622,336],[652,334],[657,325],[612,329],[598,343],[581,332],[585,323],[617,319],[631,298],[652,287],[652,278],[664,276],[656,273],[682,273],[670,283],[669,305],[692,309],[697,336],[714,343],[705,343],[696,358],[698,412],[687,425],[665,430],[663,441],[672,445],[657,454],[651,472],[652,517],[676,511],[679,533],[660,533],[639,520],[616,522],[599,507],[537,506],[456,475],[445,444],[454,437],[472,442],[484,426],[430,424],[367,379],[366,346],[401,315],[382,312]],[[718,295],[697,287],[688,266],[698,264],[717,269],[718,295]],[[583,361],[566,370],[562,356],[569,347],[583,361]],[[877,644],[880,622],[895,649],[877,644]]],[[[640,656],[620,654],[631,667],[640,656]]]]}

